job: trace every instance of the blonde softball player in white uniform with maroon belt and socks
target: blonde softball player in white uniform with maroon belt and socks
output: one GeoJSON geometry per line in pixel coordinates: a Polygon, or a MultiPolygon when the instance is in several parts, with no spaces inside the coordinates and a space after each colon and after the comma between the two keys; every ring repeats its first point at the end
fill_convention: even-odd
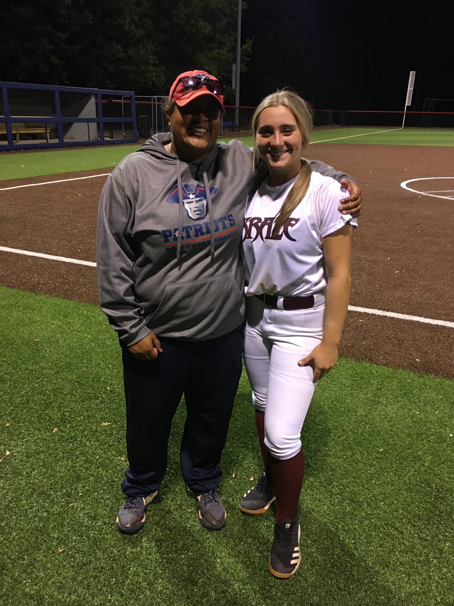
{"type": "Polygon", "coordinates": [[[311,122],[293,92],[258,105],[254,159],[268,164],[269,176],[249,195],[243,229],[244,359],[265,471],[240,510],[263,513],[276,501],[268,567],[279,578],[300,564],[301,427],[317,380],[337,362],[357,226],[338,211],[341,186],[301,158],[311,122]]]}

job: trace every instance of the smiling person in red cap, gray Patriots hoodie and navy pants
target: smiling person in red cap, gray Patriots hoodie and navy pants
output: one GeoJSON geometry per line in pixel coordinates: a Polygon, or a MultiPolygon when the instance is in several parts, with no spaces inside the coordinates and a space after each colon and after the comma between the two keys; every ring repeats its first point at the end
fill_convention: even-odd
{"type": "MultiPolygon", "coordinates": [[[[129,467],[117,528],[132,534],[163,481],[172,419],[185,396],[183,479],[199,521],[225,525],[215,489],[242,373],[244,275],[239,258],[252,152],[217,143],[222,85],[201,70],[178,76],[159,133],[120,162],[99,205],[97,275],[102,310],[123,358],[129,467]]],[[[343,209],[359,214],[361,191],[323,162],[312,170],[343,180],[343,209]]],[[[261,179],[262,175],[258,176],[261,179]]]]}

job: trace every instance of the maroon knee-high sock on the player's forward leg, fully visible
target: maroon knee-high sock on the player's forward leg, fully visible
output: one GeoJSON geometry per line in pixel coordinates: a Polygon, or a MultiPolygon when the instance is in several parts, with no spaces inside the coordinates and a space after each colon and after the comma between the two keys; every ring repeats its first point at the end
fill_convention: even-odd
{"type": "Polygon", "coordinates": [[[303,451],[285,461],[270,455],[269,464],[276,493],[276,523],[285,518],[295,519],[304,478],[303,451]]]}

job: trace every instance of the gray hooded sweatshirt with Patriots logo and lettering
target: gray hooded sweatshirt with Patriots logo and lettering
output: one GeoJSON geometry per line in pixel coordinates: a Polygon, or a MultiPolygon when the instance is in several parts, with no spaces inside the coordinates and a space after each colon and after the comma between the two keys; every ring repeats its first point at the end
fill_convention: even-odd
{"type": "MultiPolygon", "coordinates": [[[[212,339],[244,318],[239,247],[246,195],[257,180],[252,152],[240,141],[221,142],[183,162],[163,148],[169,141],[160,133],[124,158],[100,198],[100,305],[127,347],[150,330],[212,339]]],[[[347,176],[311,165],[338,181],[347,176]]]]}

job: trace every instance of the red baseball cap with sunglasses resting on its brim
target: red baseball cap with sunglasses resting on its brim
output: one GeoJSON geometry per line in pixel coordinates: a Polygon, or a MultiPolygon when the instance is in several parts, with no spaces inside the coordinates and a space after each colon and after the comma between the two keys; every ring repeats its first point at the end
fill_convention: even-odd
{"type": "Polygon", "coordinates": [[[217,78],[203,70],[192,70],[180,74],[170,87],[169,102],[175,101],[179,107],[184,107],[186,103],[194,101],[200,95],[214,97],[221,106],[222,113],[225,113],[222,84],[217,78]]]}

